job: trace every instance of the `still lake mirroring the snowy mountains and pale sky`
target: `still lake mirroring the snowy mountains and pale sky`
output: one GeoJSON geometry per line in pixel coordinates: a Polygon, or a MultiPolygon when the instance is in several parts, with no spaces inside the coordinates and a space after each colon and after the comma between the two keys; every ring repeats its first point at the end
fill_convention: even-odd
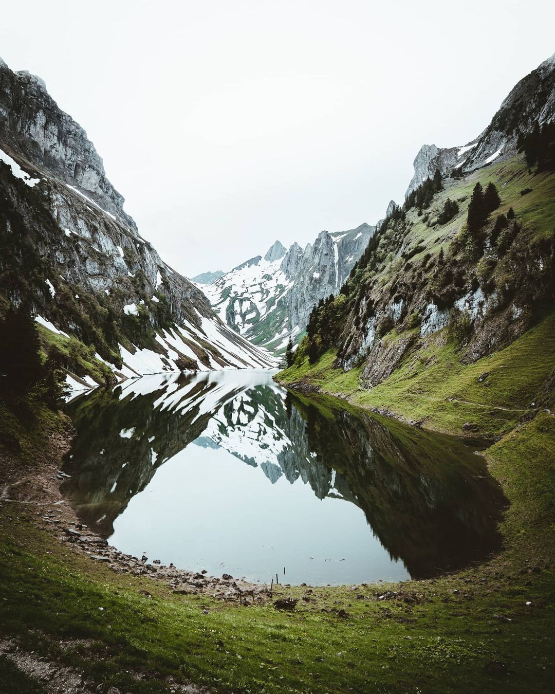
{"type": "Polygon", "coordinates": [[[273,373],[145,376],[69,403],[80,519],[130,555],[253,582],[424,578],[499,548],[504,498],[477,446],[273,373]]]}

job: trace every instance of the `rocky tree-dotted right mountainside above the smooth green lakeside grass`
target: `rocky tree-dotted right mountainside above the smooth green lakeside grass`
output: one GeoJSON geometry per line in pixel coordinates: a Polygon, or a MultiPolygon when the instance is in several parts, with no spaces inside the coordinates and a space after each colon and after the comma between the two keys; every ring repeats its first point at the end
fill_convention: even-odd
{"type": "MultiPolygon", "coordinates": [[[[555,119],[554,106],[555,56],[511,90],[473,142],[422,147],[409,191],[436,169],[441,182],[420,189],[402,208],[390,205],[394,214],[379,226],[346,283],[345,300],[315,316],[298,364],[334,349],[334,365],[359,368],[361,385],[370,389],[401,365],[416,375],[422,364],[434,364],[427,348],[435,354],[449,343],[461,362],[476,362],[553,310],[554,164],[547,158],[536,166],[518,149],[538,146],[536,126],[555,119]],[[482,190],[491,184],[495,199],[469,228],[478,183],[482,190]]],[[[541,137],[549,133],[544,128],[541,137]]],[[[545,142],[551,151],[555,143],[545,142]]],[[[479,200],[479,188],[476,194],[479,200]]]]}

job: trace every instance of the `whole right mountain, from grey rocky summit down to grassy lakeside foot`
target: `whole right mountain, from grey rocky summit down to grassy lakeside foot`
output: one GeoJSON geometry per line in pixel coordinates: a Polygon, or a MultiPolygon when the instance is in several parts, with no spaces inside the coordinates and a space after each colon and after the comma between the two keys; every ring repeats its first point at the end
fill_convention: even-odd
{"type": "MultiPolygon", "coordinates": [[[[350,373],[349,391],[377,403],[375,387],[391,383],[387,406],[398,398],[407,409],[428,392],[462,402],[467,385],[457,374],[481,360],[486,386],[466,400],[524,412],[553,398],[555,56],[514,87],[470,144],[422,146],[403,205],[388,212],[341,296],[311,314],[282,378],[305,378],[298,369],[326,354],[319,385],[339,369],[350,373]],[[488,378],[509,347],[509,361],[488,378]]],[[[488,426],[504,430],[493,415],[488,426]]]]}

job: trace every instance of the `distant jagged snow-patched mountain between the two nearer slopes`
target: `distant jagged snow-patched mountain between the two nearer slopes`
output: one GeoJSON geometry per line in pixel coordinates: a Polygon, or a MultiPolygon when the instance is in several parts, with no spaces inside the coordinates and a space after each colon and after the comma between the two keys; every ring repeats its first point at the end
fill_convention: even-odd
{"type": "Polygon", "coordinates": [[[314,244],[288,251],[276,241],[203,287],[214,311],[232,330],[258,346],[282,353],[298,341],[314,304],[337,294],[375,231],[364,223],[344,232],[322,231],[314,244]]]}

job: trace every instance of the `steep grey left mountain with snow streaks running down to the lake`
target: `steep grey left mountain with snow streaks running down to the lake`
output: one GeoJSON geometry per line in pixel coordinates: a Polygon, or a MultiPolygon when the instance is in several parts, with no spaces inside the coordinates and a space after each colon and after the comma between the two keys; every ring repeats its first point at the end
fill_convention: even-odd
{"type": "Polygon", "coordinates": [[[31,308],[72,384],[274,363],[139,234],[85,130],[44,82],[3,61],[0,198],[0,306],[31,308]]]}

